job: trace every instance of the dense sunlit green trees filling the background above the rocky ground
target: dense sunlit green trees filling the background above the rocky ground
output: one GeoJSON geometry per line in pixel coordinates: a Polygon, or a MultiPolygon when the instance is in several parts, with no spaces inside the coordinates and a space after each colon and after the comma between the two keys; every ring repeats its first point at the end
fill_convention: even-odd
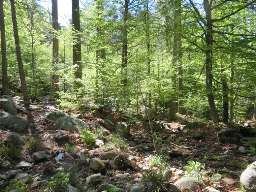
{"type": "MultiPolygon", "coordinates": [[[[21,95],[12,1],[0,1],[0,89],[21,95]]],[[[72,0],[68,27],[40,2],[14,1],[30,97],[49,94],[80,110],[116,99],[127,112],[143,105],[141,90],[170,120],[177,112],[213,122],[256,118],[256,0],[72,0]]]]}

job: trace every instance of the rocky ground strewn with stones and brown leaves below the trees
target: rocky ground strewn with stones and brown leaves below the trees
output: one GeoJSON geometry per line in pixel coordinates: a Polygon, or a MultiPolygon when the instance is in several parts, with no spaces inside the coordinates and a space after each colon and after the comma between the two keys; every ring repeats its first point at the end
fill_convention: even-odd
{"type": "MultiPolygon", "coordinates": [[[[15,109],[11,111],[9,104],[0,101],[0,147],[3,148],[12,139],[13,143],[24,146],[24,155],[16,162],[3,162],[0,167],[0,191],[11,187],[14,179],[28,184],[28,191],[43,191],[43,186],[53,180],[51,177],[54,174],[69,172],[75,165],[79,165],[77,169],[82,170],[77,174],[79,184],[75,187],[68,185],[66,191],[107,191],[107,188],[112,187],[112,191],[123,189],[139,192],[155,185],[153,181],[150,183],[143,179],[147,170],[158,169],[152,166],[156,151],[143,108],[140,114],[132,117],[119,113],[116,108],[111,113],[94,109],[79,114],[79,111],[70,109],[60,111],[60,103],[47,98],[33,103],[26,103],[19,97],[11,99],[16,104],[17,116],[15,109]],[[15,122],[9,120],[11,114],[15,122]],[[81,142],[79,130],[82,129],[92,132],[101,130],[96,132],[98,140],[91,145],[81,142]],[[111,140],[111,135],[117,130],[122,135],[120,143],[129,143],[125,152],[118,148],[119,142],[113,143],[111,140]],[[29,153],[24,144],[31,137],[41,139],[43,151],[29,153]],[[128,158],[125,162],[117,163],[115,158],[122,155],[128,158]]],[[[127,111],[130,110],[127,107],[127,111]]],[[[253,125],[254,122],[247,123],[253,125]]],[[[240,175],[248,164],[256,161],[252,148],[256,144],[255,134],[247,127],[212,124],[192,114],[179,114],[176,122],[170,122],[162,112],[154,117],[152,125],[158,152],[161,159],[168,163],[169,172],[164,182],[168,190],[244,190],[240,185],[240,175]],[[205,168],[201,170],[205,174],[200,174],[203,175],[200,184],[193,177],[195,175],[184,177],[188,176],[185,166],[191,161],[200,162],[205,168]],[[209,182],[212,175],[216,176],[216,180],[209,182]]]]}

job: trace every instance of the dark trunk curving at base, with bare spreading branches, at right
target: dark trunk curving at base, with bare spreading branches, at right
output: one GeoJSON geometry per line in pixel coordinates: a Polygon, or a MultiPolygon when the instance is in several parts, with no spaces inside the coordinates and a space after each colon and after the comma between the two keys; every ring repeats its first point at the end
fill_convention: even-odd
{"type": "Polygon", "coordinates": [[[206,43],[206,60],[205,60],[205,69],[206,69],[206,90],[207,98],[210,108],[210,113],[213,123],[219,121],[219,116],[215,107],[213,88],[212,88],[212,57],[213,57],[213,23],[212,23],[212,0],[209,3],[209,0],[203,1],[203,8],[206,13],[206,32],[205,32],[205,43],[206,43]]]}

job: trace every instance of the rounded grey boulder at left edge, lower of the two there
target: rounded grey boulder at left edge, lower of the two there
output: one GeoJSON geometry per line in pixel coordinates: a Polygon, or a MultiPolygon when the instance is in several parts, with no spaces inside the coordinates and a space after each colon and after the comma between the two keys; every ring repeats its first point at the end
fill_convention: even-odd
{"type": "Polygon", "coordinates": [[[22,132],[27,128],[28,122],[25,119],[0,112],[0,129],[22,132]]]}

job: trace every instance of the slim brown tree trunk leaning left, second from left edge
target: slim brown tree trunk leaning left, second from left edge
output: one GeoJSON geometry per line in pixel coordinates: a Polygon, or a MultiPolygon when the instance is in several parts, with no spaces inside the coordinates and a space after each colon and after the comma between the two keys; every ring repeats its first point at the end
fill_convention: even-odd
{"type": "Polygon", "coordinates": [[[22,91],[23,91],[24,100],[29,101],[28,89],[27,89],[27,85],[26,85],[23,63],[22,63],[22,58],[21,58],[21,47],[20,47],[20,41],[19,41],[19,34],[18,34],[16,12],[15,12],[15,7],[14,7],[14,0],[10,0],[10,3],[11,3],[11,18],[12,18],[12,25],[13,25],[16,55],[17,55],[19,73],[20,73],[20,78],[21,78],[21,87],[22,87],[22,91]]]}

